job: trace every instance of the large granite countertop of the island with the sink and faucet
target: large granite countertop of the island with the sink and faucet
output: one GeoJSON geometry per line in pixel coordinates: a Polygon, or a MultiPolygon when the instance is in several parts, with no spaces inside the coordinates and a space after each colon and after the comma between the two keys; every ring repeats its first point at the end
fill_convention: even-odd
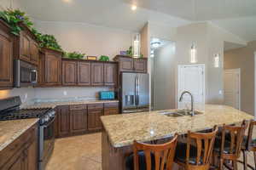
{"type": "Polygon", "coordinates": [[[187,133],[188,130],[196,132],[214,125],[253,119],[253,116],[226,105],[203,105],[200,111],[202,114],[196,116],[172,117],[159,111],[149,111],[102,116],[101,119],[113,147],[133,144],[135,139],[140,142],[164,139],[175,133],[187,133]]]}

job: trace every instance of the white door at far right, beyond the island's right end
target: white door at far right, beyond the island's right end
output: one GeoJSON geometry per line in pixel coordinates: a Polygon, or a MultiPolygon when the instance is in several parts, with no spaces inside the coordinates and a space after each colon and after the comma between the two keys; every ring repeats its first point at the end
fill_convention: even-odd
{"type": "Polygon", "coordinates": [[[224,105],[240,110],[240,69],[224,71],[224,105]]]}

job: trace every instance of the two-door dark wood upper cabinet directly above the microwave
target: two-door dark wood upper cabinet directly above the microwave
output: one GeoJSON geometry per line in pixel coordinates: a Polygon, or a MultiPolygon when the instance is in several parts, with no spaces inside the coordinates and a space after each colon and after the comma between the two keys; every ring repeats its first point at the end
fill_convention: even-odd
{"type": "Polygon", "coordinates": [[[16,59],[21,59],[33,65],[38,65],[39,49],[36,37],[26,26],[22,26],[20,36],[15,37],[14,54],[16,59]]]}

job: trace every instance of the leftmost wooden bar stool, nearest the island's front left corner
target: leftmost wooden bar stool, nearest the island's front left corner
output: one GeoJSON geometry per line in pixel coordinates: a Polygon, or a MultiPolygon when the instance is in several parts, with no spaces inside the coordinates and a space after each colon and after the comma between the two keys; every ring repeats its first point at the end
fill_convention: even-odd
{"type": "Polygon", "coordinates": [[[166,144],[143,144],[134,141],[133,154],[125,162],[127,170],[172,170],[177,134],[166,144]]]}

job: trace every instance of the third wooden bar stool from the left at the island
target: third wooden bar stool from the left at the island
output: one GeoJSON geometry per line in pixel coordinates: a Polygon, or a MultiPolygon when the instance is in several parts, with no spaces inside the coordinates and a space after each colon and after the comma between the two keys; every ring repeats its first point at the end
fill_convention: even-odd
{"type": "Polygon", "coordinates": [[[222,127],[221,137],[217,138],[214,144],[214,154],[219,157],[220,170],[223,170],[224,166],[237,170],[237,161],[241,155],[241,143],[246,128],[246,121],[243,121],[241,126],[224,125],[222,127]],[[232,166],[227,163],[228,161],[232,161],[232,166]]]}

